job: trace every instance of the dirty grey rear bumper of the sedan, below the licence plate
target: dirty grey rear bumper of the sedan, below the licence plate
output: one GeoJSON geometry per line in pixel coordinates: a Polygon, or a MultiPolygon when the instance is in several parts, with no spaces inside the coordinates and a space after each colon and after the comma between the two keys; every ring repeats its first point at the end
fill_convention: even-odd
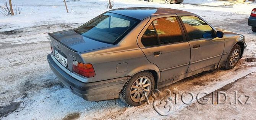
{"type": "Polygon", "coordinates": [[[58,67],[52,60],[51,55],[47,55],[47,60],[53,73],[58,79],[73,92],[86,101],[102,101],[119,98],[123,85],[130,77],[120,77],[99,82],[84,83],[71,77],[58,67]]]}

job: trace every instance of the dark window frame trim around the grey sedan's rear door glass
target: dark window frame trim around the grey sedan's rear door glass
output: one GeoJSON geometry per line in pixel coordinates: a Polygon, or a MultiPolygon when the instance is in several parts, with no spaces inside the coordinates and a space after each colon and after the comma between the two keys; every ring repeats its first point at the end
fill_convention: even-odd
{"type": "MultiPolygon", "coordinates": [[[[170,45],[170,44],[178,44],[178,43],[184,43],[184,42],[186,42],[187,41],[187,38],[186,38],[186,35],[185,35],[185,30],[184,30],[184,28],[183,28],[183,25],[181,24],[181,21],[180,21],[180,18],[176,15],[176,16],[165,16],[165,17],[159,17],[159,18],[155,18],[150,24],[149,24],[149,26],[152,24],[152,26],[154,27],[154,30],[155,30],[155,32],[156,32],[156,36],[157,36],[157,40],[158,40],[158,46],[166,46],[166,45],[170,45]],[[161,19],[161,18],[167,18],[167,17],[175,17],[176,18],[176,20],[177,20],[177,22],[178,22],[178,25],[179,25],[179,27],[180,27],[180,31],[181,31],[181,35],[182,35],[182,38],[183,38],[183,41],[180,41],[180,42],[175,42],[175,43],[168,43],[168,44],[161,44],[160,43],[160,39],[159,39],[159,36],[158,36],[158,34],[157,34],[157,31],[156,31],[156,27],[155,27],[155,25],[153,24],[153,22],[156,20],[156,19],[161,19]]],[[[148,28],[148,27],[147,27],[148,28]]],[[[143,33],[143,35],[144,35],[144,33],[143,33]]],[[[141,37],[142,38],[142,37],[141,37]]],[[[142,41],[141,41],[141,43],[142,43],[142,41]]],[[[144,46],[144,44],[142,43],[142,45],[144,46]]],[[[158,46],[144,46],[145,48],[149,48],[149,47],[158,47],[158,46]]]]}

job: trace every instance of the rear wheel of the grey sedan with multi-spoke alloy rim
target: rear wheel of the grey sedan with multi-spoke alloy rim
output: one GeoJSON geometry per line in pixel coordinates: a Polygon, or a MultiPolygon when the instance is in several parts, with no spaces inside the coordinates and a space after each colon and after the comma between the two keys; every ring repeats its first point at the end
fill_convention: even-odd
{"type": "Polygon", "coordinates": [[[149,71],[142,71],[125,83],[120,98],[129,106],[139,106],[147,101],[144,94],[146,93],[149,98],[154,90],[154,85],[154,76],[149,71]],[[147,86],[145,87],[145,85],[147,86]]]}

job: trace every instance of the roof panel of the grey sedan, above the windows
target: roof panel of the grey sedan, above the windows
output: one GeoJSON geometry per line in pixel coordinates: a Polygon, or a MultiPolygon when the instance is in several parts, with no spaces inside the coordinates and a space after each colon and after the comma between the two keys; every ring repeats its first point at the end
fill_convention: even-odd
{"type": "Polygon", "coordinates": [[[187,11],[170,9],[170,8],[150,8],[150,7],[136,7],[136,8],[119,8],[108,11],[109,13],[121,14],[128,17],[133,17],[139,20],[143,20],[147,17],[156,16],[160,14],[177,14],[177,13],[189,13],[187,11]]]}

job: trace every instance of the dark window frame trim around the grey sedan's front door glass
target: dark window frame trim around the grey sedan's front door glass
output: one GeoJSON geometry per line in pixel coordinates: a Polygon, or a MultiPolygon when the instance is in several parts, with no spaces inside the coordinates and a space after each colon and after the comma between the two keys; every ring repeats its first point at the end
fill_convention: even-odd
{"type": "Polygon", "coordinates": [[[179,16],[178,16],[178,18],[179,18],[179,20],[180,20],[180,22],[181,22],[181,25],[182,25],[182,27],[183,27],[183,29],[184,29],[184,32],[185,32],[187,41],[197,41],[197,40],[202,40],[202,39],[213,39],[213,38],[215,38],[215,36],[216,36],[215,29],[212,28],[212,26],[209,25],[208,22],[204,21],[204,19],[198,17],[199,19],[201,19],[202,21],[204,21],[207,25],[209,25],[209,27],[212,28],[212,31],[214,32],[214,36],[211,37],[211,38],[190,39],[190,36],[188,35],[188,32],[187,32],[186,27],[185,27],[185,25],[184,25],[184,23],[183,23],[183,21],[182,21],[182,19],[181,19],[181,16],[193,16],[193,17],[198,17],[198,16],[194,16],[194,15],[179,15],[179,16]]]}

